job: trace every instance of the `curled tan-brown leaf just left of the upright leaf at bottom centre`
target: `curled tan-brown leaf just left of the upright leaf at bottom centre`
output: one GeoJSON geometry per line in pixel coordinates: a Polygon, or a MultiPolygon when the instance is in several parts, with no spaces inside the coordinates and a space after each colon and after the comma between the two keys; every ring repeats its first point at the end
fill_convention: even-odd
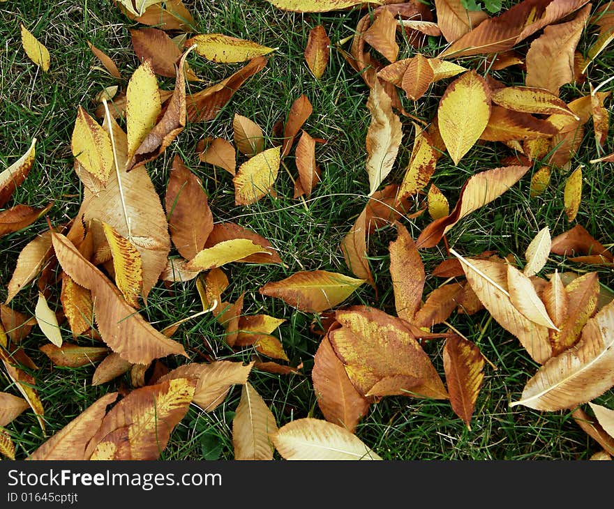
{"type": "Polygon", "coordinates": [[[230,360],[216,360],[214,363],[190,363],[170,371],[158,382],[177,378],[196,379],[192,402],[204,411],[212,411],[221,404],[230,388],[247,382],[254,363],[244,365],[230,360]]]}

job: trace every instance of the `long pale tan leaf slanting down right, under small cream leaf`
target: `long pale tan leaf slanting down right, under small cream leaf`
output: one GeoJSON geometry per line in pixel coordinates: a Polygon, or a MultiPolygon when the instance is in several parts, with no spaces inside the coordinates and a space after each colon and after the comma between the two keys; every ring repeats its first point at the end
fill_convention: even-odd
{"type": "Polygon", "coordinates": [[[536,324],[516,309],[511,302],[507,283],[507,265],[497,261],[458,257],[471,288],[493,319],[518,338],[533,360],[543,364],[551,358],[552,347],[548,328],[536,324]]]}

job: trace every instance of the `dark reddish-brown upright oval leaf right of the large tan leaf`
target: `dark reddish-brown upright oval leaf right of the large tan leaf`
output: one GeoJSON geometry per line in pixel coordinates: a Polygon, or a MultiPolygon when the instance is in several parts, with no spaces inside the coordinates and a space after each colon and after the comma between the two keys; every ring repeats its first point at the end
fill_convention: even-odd
{"type": "Polygon", "coordinates": [[[182,257],[192,259],[214,229],[214,217],[200,178],[190,172],[179,155],[173,160],[165,207],[175,248],[182,257]]]}

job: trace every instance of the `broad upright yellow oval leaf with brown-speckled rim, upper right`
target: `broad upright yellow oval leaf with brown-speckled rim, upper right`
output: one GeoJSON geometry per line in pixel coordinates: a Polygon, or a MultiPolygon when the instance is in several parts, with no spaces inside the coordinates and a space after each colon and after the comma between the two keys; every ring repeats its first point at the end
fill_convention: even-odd
{"type": "Polygon", "coordinates": [[[483,77],[470,70],[449,84],[437,109],[437,122],[455,165],[477,142],[490,116],[491,91],[483,77]]]}

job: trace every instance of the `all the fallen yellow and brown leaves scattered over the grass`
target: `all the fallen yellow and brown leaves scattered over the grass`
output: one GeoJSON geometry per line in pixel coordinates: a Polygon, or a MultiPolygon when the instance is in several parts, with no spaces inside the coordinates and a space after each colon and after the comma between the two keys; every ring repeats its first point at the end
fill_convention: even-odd
{"type": "MultiPolygon", "coordinates": [[[[213,411],[237,385],[241,400],[232,420],[235,459],[274,459],[276,452],[285,459],[381,459],[354,432],[382,398],[443,400],[471,429],[491,361],[449,319],[454,313],[484,312],[539,366],[510,406],[571,413],[599,443],[594,457],[611,459],[614,409],[594,400],[614,386],[613,294],[599,284],[596,271],[545,273],[544,267],[553,255],[578,266],[614,263],[614,255],[583,226],[571,227],[582,202],[583,165],[575,160],[587,130],[592,129],[603,154],[591,164],[614,162],[614,154],[608,153],[612,146],[605,106],[610,94],[601,91],[606,82],[591,82],[599,54],[614,39],[614,4],[523,0],[498,13],[500,6],[488,2],[488,10],[498,13],[489,16],[461,0],[435,0],[432,7],[419,1],[368,6],[356,0],[269,1],[297,13],[364,10],[345,41],[351,41],[350,47],[331,42],[327,26],[319,25],[310,31],[303,56],[320,79],[331,50],[338,51],[356,70],[356,79],[366,84],[370,124],[366,165],[360,171],[368,178],[367,202],[338,246],[347,274],[299,271],[258,288],[266,298],[313,314],[311,333],[319,338],[313,369],[303,372],[302,365],[290,363],[275,335],[285,319],[248,314],[244,295],[234,302],[223,298],[230,285],[224,266],[283,265],[283,248],[276,250],[269,239],[239,222],[217,220],[202,181],[178,153],[172,155],[164,195],[156,192],[147,166],[173,151],[184,130],[216,119],[278,49],[222,33],[197,33],[190,10],[179,0],[118,0],[115,8],[136,26],[130,37],[140,65],[125,90],[118,85],[104,89],[95,110],[75,105],[70,149],[75,178],[83,188],[80,209],[64,224],[47,219],[48,229],[21,250],[6,282],[0,356],[10,384],[0,393],[0,425],[33,411],[45,431],[38,367],[22,347],[31,328],[38,326],[49,340],[40,350],[54,365],[96,363],[86,383],[103,386],[128,373],[132,387],[100,397],[27,459],[158,459],[190,404],[213,411]],[[584,55],[577,45],[587,30],[599,35],[584,55]],[[428,56],[428,38],[441,39],[445,49],[428,56]],[[401,41],[411,56],[398,59],[401,41]],[[200,78],[187,62],[193,54],[244,65],[197,90],[200,78]],[[493,77],[493,70],[508,68],[521,68],[524,83],[506,84],[493,77]],[[174,88],[161,88],[161,78],[174,79],[174,88]],[[435,115],[425,121],[408,112],[419,110],[437,82],[444,88],[435,115]],[[562,96],[565,85],[585,82],[588,95],[562,96]],[[189,93],[186,83],[191,84],[189,93]],[[407,128],[413,133],[413,149],[402,178],[394,182],[407,128]],[[431,182],[437,163],[449,158],[456,166],[475,144],[504,144],[510,155],[497,167],[484,161],[486,169],[467,178],[450,208],[431,182]],[[570,227],[563,234],[552,238],[544,227],[522,254],[467,255],[462,246],[449,245],[451,229],[521,179],[532,175],[530,194],[536,197],[553,174],[566,172],[560,202],[570,227]],[[419,236],[412,238],[407,221],[427,216],[419,236]],[[382,227],[396,232],[387,252],[394,314],[378,307],[377,300],[374,305],[351,301],[364,285],[378,291],[369,238],[382,227]],[[442,245],[445,256],[432,275],[443,282],[426,292],[424,252],[442,245]],[[39,292],[30,317],[10,303],[33,282],[39,292]],[[161,331],[146,319],[142,306],[156,284],[180,291],[186,282],[200,295],[199,315],[211,313],[224,331],[216,341],[248,352],[249,363],[190,360],[185,345],[172,336],[193,317],[161,331]],[[54,311],[48,301],[57,295],[60,305],[54,311]],[[97,346],[83,346],[80,338],[97,346]],[[443,345],[443,372],[424,348],[430,342],[443,345]],[[249,381],[254,368],[280,376],[306,375],[323,418],[278,422],[249,381]]],[[[23,25],[21,36],[23,50],[47,72],[47,48],[23,25]]],[[[116,63],[90,48],[119,81],[116,63]]],[[[299,96],[271,136],[237,113],[232,140],[206,137],[195,150],[207,171],[222,169],[232,176],[237,209],[275,196],[280,169],[292,176],[293,198],[307,207],[326,171],[315,149],[327,140],[304,129],[312,112],[307,96],[299,96]],[[291,154],[292,171],[286,163],[291,154]]],[[[27,179],[36,142],[32,139],[27,152],[0,173],[0,206],[27,179]]],[[[0,234],[44,221],[51,206],[11,205],[0,212],[0,234]]],[[[14,458],[10,433],[0,431],[1,453],[14,458]]]]}

